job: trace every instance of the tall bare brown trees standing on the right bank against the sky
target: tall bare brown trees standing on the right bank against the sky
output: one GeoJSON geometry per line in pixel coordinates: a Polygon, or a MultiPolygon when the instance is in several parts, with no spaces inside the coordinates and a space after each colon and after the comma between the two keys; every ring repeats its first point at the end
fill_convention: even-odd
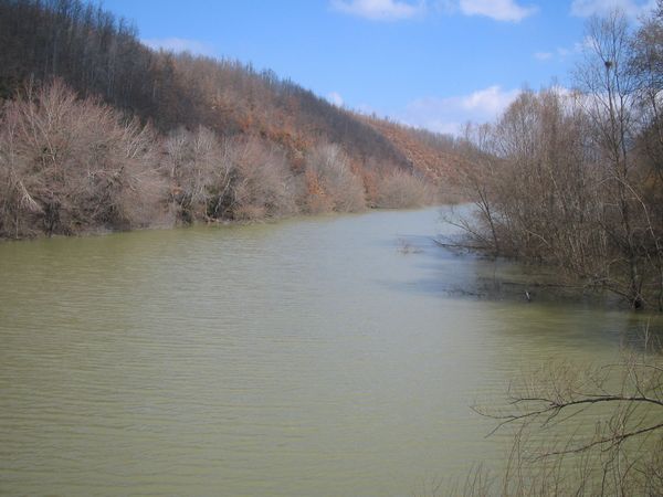
{"type": "Polygon", "coordinates": [[[526,91],[469,135],[474,246],[663,310],[663,1],[588,25],[576,88],[526,91]]]}

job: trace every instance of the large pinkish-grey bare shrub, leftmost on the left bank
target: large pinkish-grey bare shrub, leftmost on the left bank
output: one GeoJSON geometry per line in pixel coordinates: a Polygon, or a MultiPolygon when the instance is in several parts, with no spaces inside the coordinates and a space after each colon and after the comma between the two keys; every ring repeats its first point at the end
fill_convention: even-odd
{"type": "Polygon", "coordinates": [[[162,183],[154,134],[55,82],[7,102],[0,123],[0,235],[146,225],[162,183]]]}

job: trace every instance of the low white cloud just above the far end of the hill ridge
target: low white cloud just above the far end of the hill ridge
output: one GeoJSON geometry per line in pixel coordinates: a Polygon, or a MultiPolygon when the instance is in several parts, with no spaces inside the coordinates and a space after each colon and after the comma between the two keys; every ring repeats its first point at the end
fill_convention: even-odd
{"type": "Polygon", "coordinates": [[[481,124],[496,119],[519,93],[519,89],[505,91],[495,85],[469,95],[420,98],[410,103],[397,118],[410,126],[459,135],[467,121],[481,124]]]}

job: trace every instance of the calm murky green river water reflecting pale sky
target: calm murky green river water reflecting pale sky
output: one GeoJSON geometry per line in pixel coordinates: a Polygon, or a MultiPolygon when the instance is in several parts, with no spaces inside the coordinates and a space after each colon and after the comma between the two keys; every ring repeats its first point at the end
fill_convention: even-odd
{"type": "Polygon", "coordinates": [[[0,244],[0,494],[400,496],[499,464],[470,406],[611,360],[642,318],[467,295],[493,263],[431,242],[450,230],[430,209],[0,244]]]}

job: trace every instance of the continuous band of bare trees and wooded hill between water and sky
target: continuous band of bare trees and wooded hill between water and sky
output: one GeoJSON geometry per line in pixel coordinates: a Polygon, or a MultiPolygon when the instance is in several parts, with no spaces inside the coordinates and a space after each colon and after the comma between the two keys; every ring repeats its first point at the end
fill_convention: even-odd
{"type": "MultiPolygon", "coordinates": [[[[152,51],[81,0],[0,0],[0,239],[471,201],[490,256],[663,310],[663,2],[588,27],[572,89],[454,138],[269,71],[152,51]]],[[[444,243],[444,241],[441,241],[444,243]]]]}

